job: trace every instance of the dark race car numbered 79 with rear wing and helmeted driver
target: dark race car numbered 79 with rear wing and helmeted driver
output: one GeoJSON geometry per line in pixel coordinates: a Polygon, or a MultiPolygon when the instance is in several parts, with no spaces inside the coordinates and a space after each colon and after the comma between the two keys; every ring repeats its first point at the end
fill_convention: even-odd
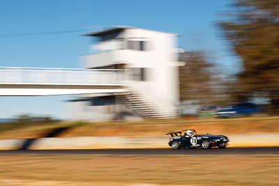
{"type": "Polygon", "coordinates": [[[229,145],[229,138],[226,136],[197,134],[193,129],[179,132],[166,132],[165,134],[172,136],[169,138],[169,146],[172,146],[173,149],[197,147],[208,149],[212,146],[226,148],[229,145]]]}

